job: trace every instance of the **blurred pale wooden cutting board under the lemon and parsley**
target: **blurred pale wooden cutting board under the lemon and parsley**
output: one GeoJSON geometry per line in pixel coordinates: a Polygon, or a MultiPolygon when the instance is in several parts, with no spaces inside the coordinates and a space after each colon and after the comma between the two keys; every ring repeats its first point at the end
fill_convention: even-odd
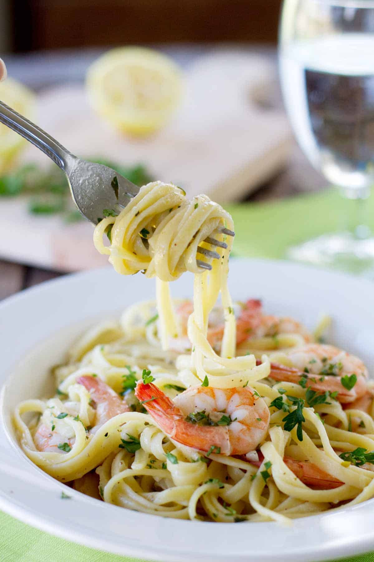
{"type": "MultiPolygon", "coordinates": [[[[219,51],[198,59],[186,73],[184,99],[173,120],[151,138],[121,136],[89,107],[81,85],[46,90],[38,98],[41,128],[82,157],[144,163],[154,178],[181,185],[188,197],[238,201],[284,165],[291,146],[287,118],[257,103],[274,84],[267,58],[219,51]]],[[[3,125],[0,125],[3,126],[3,125]]],[[[22,162],[49,165],[30,146],[22,162]]],[[[74,271],[103,265],[86,222],[63,224],[37,217],[21,198],[0,199],[0,257],[44,268],[74,271]]]]}

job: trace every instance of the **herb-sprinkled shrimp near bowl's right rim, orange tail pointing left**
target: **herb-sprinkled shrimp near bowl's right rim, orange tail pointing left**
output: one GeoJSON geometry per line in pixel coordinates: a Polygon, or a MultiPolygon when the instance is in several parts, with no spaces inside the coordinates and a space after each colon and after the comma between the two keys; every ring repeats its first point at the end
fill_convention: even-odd
{"type": "Polygon", "coordinates": [[[269,377],[285,382],[299,383],[315,391],[338,392],[341,404],[354,402],[367,391],[368,370],[361,359],[334,346],[310,343],[287,353],[294,368],[271,363],[269,377]],[[341,377],[355,374],[357,382],[352,389],[341,383],[341,377]]]}

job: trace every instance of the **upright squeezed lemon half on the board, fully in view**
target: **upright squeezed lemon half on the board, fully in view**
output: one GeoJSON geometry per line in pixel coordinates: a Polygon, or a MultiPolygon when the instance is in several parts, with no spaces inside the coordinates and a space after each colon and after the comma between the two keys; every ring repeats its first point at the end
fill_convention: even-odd
{"type": "Polygon", "coordinates": [[[146,135],[163,126],[181,98],[181,71],[152,49],[122,47],[99,57],[87,71],[91,106],[124,133],[146,135]]]}

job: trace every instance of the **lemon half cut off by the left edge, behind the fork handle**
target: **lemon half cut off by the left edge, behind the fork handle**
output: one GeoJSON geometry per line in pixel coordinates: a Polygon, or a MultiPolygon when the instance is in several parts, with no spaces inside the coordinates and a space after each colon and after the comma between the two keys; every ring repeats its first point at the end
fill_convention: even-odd
{"type": "MultiPolygon", "coordinates": [[[[0,83],[0,99],[21,115],[33,119],[35,95],[29,88],[12,78],[0,83]]],[[[27,141],[6,125],[0,124],[0,173],[6,171],[27,141]]]]}

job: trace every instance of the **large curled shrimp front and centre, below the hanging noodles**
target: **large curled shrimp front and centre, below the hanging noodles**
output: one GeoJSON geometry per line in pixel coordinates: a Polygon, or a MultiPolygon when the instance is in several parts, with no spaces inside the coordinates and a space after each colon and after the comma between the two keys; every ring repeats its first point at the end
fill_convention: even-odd
{"type": "Polygon", "coordinates": [[[245,454],[269,428],[269,408],[249,387],[190,387],[172,402],[154,384],[138,382],[135,395],[165,433],[199,451],[245,454]],[[199,419],[209,425],[198,425],[199,419]]]}

